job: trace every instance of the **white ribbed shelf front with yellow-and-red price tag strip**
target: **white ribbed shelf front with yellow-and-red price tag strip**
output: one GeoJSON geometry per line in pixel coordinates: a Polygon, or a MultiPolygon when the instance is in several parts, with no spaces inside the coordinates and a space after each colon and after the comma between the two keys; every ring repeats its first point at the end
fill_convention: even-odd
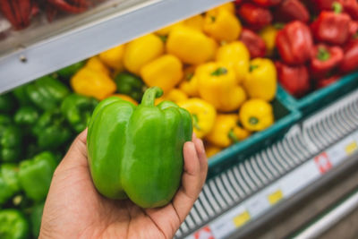
{"type": "Polygon", "coordinates": [[[209,178],[175,237],[238,236],[245,226],[358,156],[357,118],[354,90],[295,124],[281,141],[209,178]]]}

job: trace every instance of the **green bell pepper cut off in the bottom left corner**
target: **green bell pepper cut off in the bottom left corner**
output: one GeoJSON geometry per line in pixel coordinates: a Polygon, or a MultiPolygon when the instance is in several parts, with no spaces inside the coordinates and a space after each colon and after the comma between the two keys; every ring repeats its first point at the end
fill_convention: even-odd
{"type": "Polygon", "coordinates": [[[0,238],[26,239],[30,235],[29,221],[17,209],[0,211],[0,238]]]}

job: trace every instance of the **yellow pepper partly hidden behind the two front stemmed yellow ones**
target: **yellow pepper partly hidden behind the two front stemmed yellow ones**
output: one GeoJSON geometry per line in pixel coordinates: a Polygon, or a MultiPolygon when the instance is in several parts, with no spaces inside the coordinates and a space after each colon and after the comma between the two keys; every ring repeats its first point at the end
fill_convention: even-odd
{"type": "Polygon", "coordinates": [[[236,73],[236,78],[241,83],[249,73],[250,52],[241,41],[234,41],[217,49],[217,62],[230,64],[236,73]]]}

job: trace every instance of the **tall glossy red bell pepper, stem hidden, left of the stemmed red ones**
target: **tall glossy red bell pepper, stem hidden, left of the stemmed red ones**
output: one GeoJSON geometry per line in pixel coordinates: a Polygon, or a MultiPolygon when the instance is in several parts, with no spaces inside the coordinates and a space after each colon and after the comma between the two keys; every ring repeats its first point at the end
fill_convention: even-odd
{"type": "Polygon", "coordinates": [[[311,31],[303,22],[292,21],[278,31],[276,47],[286,64],[304,64],[311,59],[311,31]]]}

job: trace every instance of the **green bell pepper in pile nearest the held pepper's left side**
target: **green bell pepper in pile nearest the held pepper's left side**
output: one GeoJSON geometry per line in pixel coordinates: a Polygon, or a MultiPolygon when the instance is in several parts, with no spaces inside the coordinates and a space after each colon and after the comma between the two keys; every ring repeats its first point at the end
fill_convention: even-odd
{"type": "Polygon", "coordinates": [[[90,116],[98,105],[96,98],[71,94],[64,98],[61,111],[75,132],[82,132],[90,122],[90,116]]]}

